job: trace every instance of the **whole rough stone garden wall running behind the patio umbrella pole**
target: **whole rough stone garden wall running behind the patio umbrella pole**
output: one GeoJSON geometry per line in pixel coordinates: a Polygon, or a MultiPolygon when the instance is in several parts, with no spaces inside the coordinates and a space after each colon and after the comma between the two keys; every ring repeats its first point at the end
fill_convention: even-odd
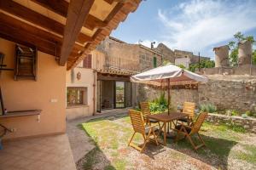
{"type": "MultiPolygon", "coordinates": [[[[143,84],[139,84],[137,90],[137,101],[151,101],[159,97],[161,92],[143,84]]],[[[171,90],[173,107],[183,105],[184,101],[195,102],[197,106],[211,103],[218,110],[253,111],[253,105],[256,105],[256,79],[210,79],[206,84],[199,84],[198,89],[171,90]]]]}

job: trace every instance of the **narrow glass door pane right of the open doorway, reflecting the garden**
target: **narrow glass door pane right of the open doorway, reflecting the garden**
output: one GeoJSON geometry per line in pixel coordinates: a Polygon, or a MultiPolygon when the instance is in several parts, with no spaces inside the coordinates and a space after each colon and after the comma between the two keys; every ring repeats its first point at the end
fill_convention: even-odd
{"type": "Polygon", "coordinates": [[[125,82],[115,82],[115,108],[125,107],[125,82]]]}

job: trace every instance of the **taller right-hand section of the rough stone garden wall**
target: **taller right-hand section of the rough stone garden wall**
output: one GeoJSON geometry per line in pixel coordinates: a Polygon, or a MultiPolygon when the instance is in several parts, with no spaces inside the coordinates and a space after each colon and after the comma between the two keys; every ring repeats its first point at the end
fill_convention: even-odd
{"type": "Polygon", "coordinates": [[[256,103],[256,79],[209,80],[198,87],[199,104],[212,103],[218,110],[250,111],[256,103]]]}

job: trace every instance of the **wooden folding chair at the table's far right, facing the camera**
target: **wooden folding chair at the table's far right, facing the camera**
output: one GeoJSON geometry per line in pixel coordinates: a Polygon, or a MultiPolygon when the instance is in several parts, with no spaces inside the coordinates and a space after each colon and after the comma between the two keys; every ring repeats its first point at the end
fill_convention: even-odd
{"type": "Polygon", "coordinates": [[[193,122],[193,118],[195,116],[195,103],[192,102],[184,102],[183,103],[183,113],[188,115],[187,118],[178,119],[181,122],[193,122]]]}

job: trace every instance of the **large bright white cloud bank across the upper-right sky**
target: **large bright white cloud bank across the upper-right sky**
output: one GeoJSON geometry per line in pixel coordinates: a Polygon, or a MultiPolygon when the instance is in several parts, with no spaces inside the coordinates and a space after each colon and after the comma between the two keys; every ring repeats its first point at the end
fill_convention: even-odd
{"type": "Polygon", "coordinates": [[[253,0],[193,0],[159,9],[158,18],[164,25],[160,39],[170,48],[205,50],[229,40],[237,31],[256,28],[255,8],[253,0]]]}

